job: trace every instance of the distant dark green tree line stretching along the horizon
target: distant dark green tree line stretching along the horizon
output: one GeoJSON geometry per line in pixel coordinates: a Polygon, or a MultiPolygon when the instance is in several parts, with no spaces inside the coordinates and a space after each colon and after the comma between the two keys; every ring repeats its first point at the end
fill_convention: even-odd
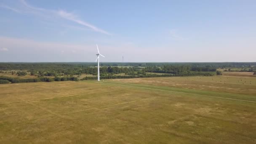
{"type": "MultiPolygon", "coordinates": [[[[101,67],[162,67],[163,65],[189,65],[191,67],[213,67],[213,68],[245,68],[256,67],[256,62],[149,62],[149,63],[118,63],[118,62],[101,62],[101,67]]],[[[38,62],[38,63],[22,63],[22,62],[0,62],[0,70],[30,70],[35,69],[39,71],[50,69],[75,69],[84,67],[96,67],[96,62],[38,62]]]]}

